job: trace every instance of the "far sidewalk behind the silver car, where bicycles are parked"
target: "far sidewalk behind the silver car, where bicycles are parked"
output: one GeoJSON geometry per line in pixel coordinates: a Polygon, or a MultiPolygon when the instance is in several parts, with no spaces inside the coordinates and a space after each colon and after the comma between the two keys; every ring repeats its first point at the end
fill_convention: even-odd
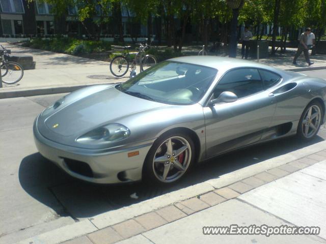
{"type": "MultiPolygon", "coordinates": [[[[63,53],[54,53],[18,45],[0,43],[11,49],[12,54],[31,54],[36,61],[35,70],[24,71],[21,81],[16,84],[3,84],[0,88],[1,98],[36,96],[55,93],[68,93],[86,85],[124,82],[129,77],[114,77],[110,72],[110,64],[94,59],[77,57],[63,53]]],[[[315,64],[309,67],[301,55],[297,66],[292,65],[295,49],[288,49],[286,54],[263,58],[259,62],[276,68],[305,71],[326,69],[326,55],[315,55],[311,60],[315,64]]],[[[256,59],[251,59],[257,61],[256,59]]],[[[139,68],[137,69],[139,73],[139,68]]]]}

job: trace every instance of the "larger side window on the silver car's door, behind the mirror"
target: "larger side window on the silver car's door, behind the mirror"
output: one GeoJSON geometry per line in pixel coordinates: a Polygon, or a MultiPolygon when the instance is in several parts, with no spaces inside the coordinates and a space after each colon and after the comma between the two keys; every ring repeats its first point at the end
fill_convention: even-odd
{"type": "Polygon", "coordinates": [[[223,92],[232,92],[238,98],[247,97],[264,90],[257,69],[242,68],[226,73],[214,89],[214,98],[223,92]]]}

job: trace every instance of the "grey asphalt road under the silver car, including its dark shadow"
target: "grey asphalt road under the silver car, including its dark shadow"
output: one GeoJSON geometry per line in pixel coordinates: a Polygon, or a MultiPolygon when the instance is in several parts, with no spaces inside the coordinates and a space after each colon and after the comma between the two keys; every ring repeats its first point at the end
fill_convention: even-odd
{"type": "MultiPolygon", "coordinates": [[[[326,70],[302,73],[326,78],[326,70]]],[[[309,143],[292,137],[237,150],[197,165],[178,185],[169,188],[152,187],[142,182],[94,185],[68,176],[37,153],[34,145],[32,124],[36,115],[62,96],[0,100],[0,243],[10,244],[326,139],[326,129],[322,127],[309,143]]]]}

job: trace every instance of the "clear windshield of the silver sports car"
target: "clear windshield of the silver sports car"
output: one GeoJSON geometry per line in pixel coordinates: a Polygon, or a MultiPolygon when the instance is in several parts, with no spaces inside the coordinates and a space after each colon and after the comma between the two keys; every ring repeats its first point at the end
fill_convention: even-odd
{"type": "Polygon", "coordinates": [[[189,105],[197,103],[204,96],[217,72],[205,66],[165,61],[116,88],[151,101],[189,105]]]}

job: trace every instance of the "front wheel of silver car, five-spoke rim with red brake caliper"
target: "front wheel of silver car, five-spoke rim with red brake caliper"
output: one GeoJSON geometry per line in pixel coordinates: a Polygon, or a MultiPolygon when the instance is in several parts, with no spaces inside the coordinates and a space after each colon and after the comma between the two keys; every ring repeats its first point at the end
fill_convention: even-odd
{"type": "Polygon", "coordinates": [[[143,177],[150,182],[168,185],[184,176],[194,163],[192,139],[183,133],[169,133],[157,139],[144,164],[143,177]]]}

